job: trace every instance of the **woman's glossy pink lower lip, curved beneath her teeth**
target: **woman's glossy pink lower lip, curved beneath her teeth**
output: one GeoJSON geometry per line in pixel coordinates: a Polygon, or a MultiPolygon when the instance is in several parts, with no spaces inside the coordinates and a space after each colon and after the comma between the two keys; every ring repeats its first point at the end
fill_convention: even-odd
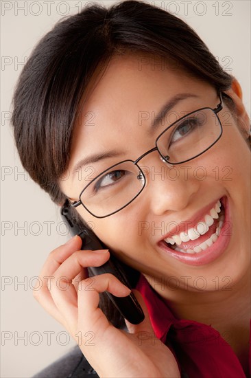
{"type": "Polygon", "coordinates": [[[215,243],[213,243],[211,247],[208,247],[205,251],[199,252],[198,254],[184,254],[167,247],[164,241],[160,241],[160,243],[158,243],[158,246],[163,249],[165,253],[167,252],[172,257],[187,265],[198,266],[208,264],[213,260],[216,260],[216,258],[218,258],[219,256],[222,256],[222,254],[224,254],[226,250],[226,247],[228,247],[228,243],[230,242],[231,227],[228,226],[232,225],[232,222],[230,221],[228,201],[226,197],[223,197],[220,201],[224,205],[225,219],[217,241],[215,241],[215,243]]]}

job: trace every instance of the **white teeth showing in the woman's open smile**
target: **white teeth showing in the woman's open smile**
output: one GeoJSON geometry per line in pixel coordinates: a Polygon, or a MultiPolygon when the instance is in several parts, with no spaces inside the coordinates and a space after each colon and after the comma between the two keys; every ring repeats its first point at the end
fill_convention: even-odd
{"type": "Polygon", "coordinates": [[[212,208],[209,212],[209,214],[205,215],[204,222],[200,221],[196,227],[189,228],[187,232],[180,232],[180,234],[174,235],[169,238],[165,238],[165,241],[171,245],[174,245],[174,249],[176,249],[179,252],[184,253],[200,253],[202,250],[204,251],[206,248],[211,247],[215,241],[217,241],[217,238],[219,236],[220,230],[222,228],[222,225],[224,223],[224,212],[219,217],[219,212],[221,212],[221,206],[222,203],[220,201],[217,201],[214,208],[212,208]],[[210,238],[208,238],[206,241],[201,243],[200,245],[197,245],[194,247],[194,249],[187,249],[186,251],[183,249],[180,249],[178,245],[181,245],[181,243],[186,243],[188,241],[194,241],[198,238],[200,238],[201,235],[206,234],[208,232],[209,227],[213,225],[215,219],[219,218],[219,223],[217,225],[215,234],[211,235],[210,238]]]}

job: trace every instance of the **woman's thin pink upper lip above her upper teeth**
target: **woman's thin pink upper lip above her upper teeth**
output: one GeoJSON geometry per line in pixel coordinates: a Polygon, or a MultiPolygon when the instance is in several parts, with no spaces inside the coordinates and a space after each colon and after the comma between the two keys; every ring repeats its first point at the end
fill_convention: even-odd
{"type": "MultiPolygon", "coordinates": [[[[171,230],[169,230],[169,232],[158,241],[158,243],[160,241],[163,241],[163,239],[165,238],[171,238],[171,236],[180,234],[180,232],[187,232],[189,228],[195,227],[195,225],[197,225],[199,222],[204,222],[204,216],[206,214],[209,214],[210,210],[215,206],[217,201],[221,201],[221,199],[215,199],[215,201],[212,201],[211,203],[209,203],[209,205],[206,205],[204,208],[198,210],[198,212],[191,216],[190,219],[181,221],[180,223],[177,222],[176,225],[174,225],[174,227],[172,227],[171,230]]],[[[174,223],[174,221],[171,221],[171,223],[174,223]]]]}

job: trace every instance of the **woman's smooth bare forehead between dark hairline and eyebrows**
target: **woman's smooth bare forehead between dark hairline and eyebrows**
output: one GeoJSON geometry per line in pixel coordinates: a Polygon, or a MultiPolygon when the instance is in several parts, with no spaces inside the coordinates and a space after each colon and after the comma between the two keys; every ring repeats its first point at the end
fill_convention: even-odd
{"type": "Polygon", "coordinates": [[[172,96],[203,93],[205,87],[209,85],[164,58],[113,56],[81,108],[73,133],[71,162],[93,149],[110,148],[121,137],[133,142],[143,131],[139,122],[142,113],[152,118],[172,96]]]}

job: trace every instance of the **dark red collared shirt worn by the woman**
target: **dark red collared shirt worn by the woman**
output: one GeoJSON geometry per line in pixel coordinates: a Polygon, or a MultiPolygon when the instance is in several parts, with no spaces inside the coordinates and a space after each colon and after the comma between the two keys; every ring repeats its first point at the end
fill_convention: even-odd
{"type": "MultiPolygon", "coordinates": [[[[178,320],[141,275],[136,289],[145,300],[156,337],[174,353],[182,377],[246,378],[231,346],[213,327],[178,320]]],[[[251,351],[249,368],[251,372],[251,351]]]]}

